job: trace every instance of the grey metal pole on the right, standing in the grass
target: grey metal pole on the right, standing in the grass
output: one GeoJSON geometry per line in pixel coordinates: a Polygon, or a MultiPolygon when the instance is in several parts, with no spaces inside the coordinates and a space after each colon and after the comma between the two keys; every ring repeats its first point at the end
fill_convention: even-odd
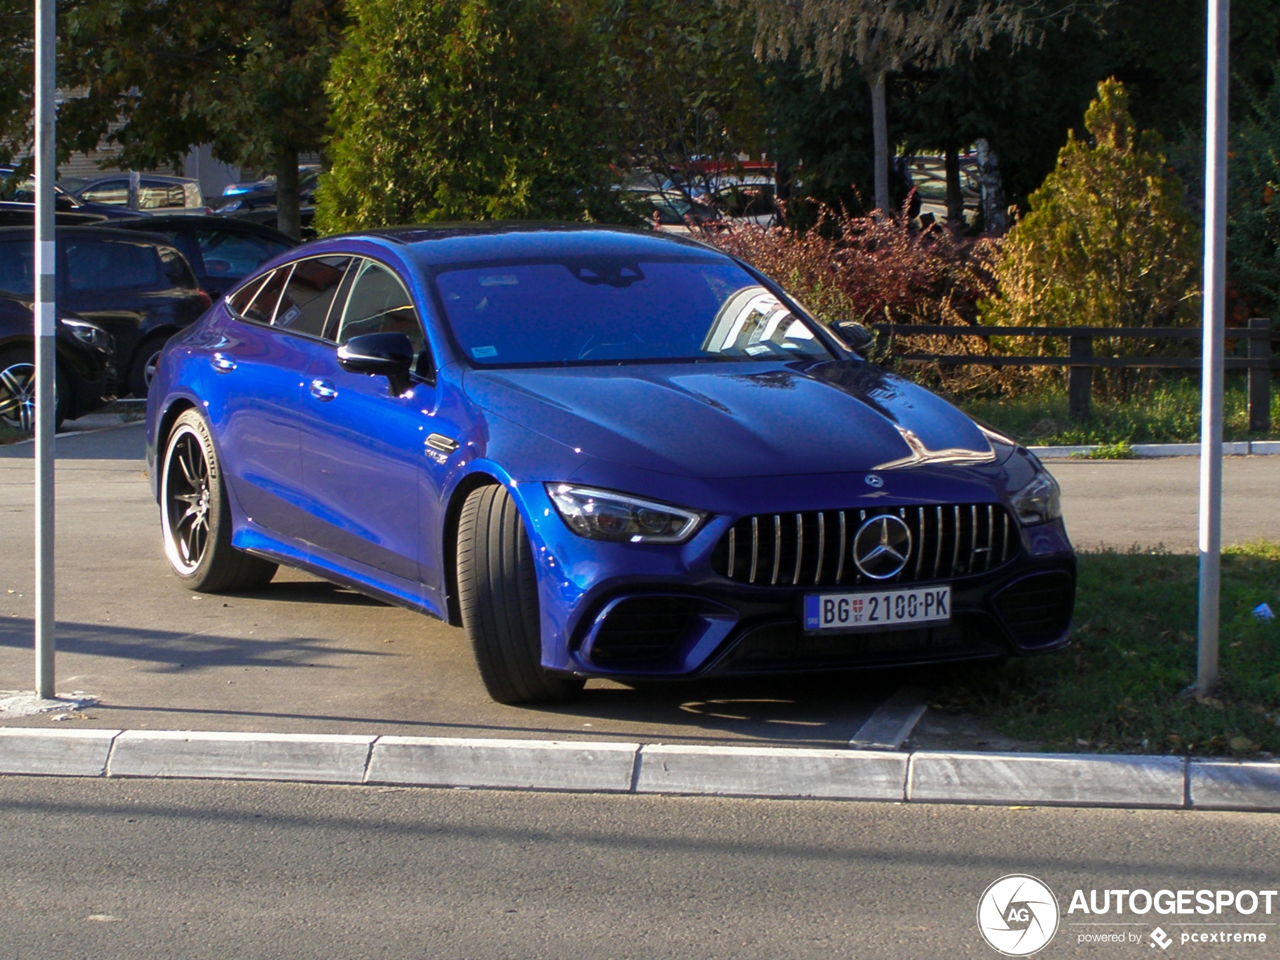
{"type": "Polygon", "coordinates": [[[1222,550],[1222,355],[1226,293],[1226,93],[1230,0],[1208,0],[1204,88],[1204,348],[1201,385],[1199,644],[1196,691],[1217,686],[1222,550]]]}

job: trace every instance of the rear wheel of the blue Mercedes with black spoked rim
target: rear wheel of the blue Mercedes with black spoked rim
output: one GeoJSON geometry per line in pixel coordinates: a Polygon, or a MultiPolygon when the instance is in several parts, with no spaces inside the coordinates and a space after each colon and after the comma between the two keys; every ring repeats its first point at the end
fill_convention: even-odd
{"type": "Polygon", "coordinates": [[[279,566],[232,547],[227,485],[204,419],[188,410],[173,425],[160,463],[165,556],[188,590],[233,593],[271,582],[279,566]]]}

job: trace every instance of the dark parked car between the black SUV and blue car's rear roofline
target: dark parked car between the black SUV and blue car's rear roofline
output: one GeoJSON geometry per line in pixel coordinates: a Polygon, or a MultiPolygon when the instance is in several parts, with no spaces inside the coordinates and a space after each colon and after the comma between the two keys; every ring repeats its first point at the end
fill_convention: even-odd
{"type": "Polygon", "coordinates": [[[111,220],[118,230],[163,236],[187,257],[200,288],[218,300],[268,260],[298,241],[261,224],[227,216],[137,216],[111,220]]]}

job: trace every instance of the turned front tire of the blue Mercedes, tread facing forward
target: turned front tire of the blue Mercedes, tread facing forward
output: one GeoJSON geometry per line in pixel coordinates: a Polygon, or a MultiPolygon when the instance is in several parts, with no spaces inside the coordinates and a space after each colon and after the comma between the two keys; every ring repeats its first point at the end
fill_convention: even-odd
{"type": "Polygon", "coordinates": [[[458,521],[458,607],[485,689],[498,703],[568,700],[585,681],[543,669],[534,554],[504,486],[467,497],[458,521]]]}

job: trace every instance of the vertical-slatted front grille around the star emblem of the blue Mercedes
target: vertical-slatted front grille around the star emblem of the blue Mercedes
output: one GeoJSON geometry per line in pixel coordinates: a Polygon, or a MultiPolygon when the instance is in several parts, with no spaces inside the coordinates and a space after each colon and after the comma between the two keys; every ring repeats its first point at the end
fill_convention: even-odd
{"type": "Polygon", "coordinates": [[[983,573],[1018,548],[1018,525],[996,503],[759,513],[721,538],[712,570],[756,586],[911,582],[983,573]],[[886,513],[906,524],[911,549],[899,573],[877,580],[854,563],[852,544],[864,522],[886,513]]]}

